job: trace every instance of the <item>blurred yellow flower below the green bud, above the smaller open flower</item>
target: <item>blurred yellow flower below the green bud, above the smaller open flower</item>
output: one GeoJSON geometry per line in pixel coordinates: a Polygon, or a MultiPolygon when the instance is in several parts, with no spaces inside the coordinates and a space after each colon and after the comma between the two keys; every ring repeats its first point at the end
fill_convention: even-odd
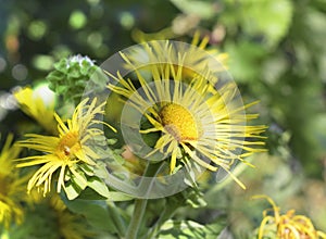
{"type": "MultiPolygon", "coordinates": [[[[42,91],[45,91],[45,89],[42,89],[42,91]]],[[[42,97],[30,87],[20,88],[13,92],[13,96],[25,114],[36,120],[37,123],[48,131],[57,133],[57,124],[53,116],[54,100],[46,104],[42,97]]]]}

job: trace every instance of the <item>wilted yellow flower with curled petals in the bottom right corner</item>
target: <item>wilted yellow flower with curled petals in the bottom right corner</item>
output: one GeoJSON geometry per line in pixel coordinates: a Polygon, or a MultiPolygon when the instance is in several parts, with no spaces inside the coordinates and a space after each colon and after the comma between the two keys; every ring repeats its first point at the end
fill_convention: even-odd
{"type": "Polygon", "coordinates": [[[267,196],[254,196],[253,199],[266,199],[271,205],[271,210],[263,212],[263,221],[259,228],[259,239],[264,236],[275,234],[278,239],[325,239],[326,234],[314,228],[311,219],[303,215],[296,215],[294,210],[288,211],[286,214],[280,214],[279,207],[267,196]]]}

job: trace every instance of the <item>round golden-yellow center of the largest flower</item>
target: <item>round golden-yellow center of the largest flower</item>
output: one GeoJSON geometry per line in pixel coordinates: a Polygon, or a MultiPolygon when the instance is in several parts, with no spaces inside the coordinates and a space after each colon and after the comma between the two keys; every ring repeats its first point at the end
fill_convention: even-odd
{"type": "Polygon", "coordinates": [[[199,137],[196,120],[184,106],[175,103],[165,105],[160,116],[164,128],[178,141],[196,140],[199,137]]]}

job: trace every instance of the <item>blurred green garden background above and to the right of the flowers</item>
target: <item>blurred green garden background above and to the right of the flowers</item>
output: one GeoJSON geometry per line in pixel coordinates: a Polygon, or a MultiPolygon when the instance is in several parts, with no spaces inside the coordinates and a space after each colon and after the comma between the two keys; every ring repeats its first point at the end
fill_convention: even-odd
{"type": "Polygon", "coordinates": [[[201,213],[222,210],[230,230],[242,235],[266,207],[250,196],[266,193],[326,230],[325,0],[0,0],[0,16],[3,135],[20,135],[30,121],[16,110],[13,88],[45,80],[63,56],[80,53],[100,65],[141,39],[210,36],[209,48],[229,54],[243,101],[260,100],[252,111],[268,126],[268,153],[240,176],[246,191],[236,185],[213,190],[211,209],[201,213]]]}

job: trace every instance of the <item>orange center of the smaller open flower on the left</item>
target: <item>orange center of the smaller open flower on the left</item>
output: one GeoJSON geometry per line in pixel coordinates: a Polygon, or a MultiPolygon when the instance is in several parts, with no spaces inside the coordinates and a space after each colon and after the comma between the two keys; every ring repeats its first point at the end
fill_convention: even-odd
{"type": "Polygon", "coordinates": [[[64,135],[57,147],[57,154],[60,159],[74,158],[75,153],[80,150],[80,143],[78,134],[76,131],[70,131],[64,135]]]}

